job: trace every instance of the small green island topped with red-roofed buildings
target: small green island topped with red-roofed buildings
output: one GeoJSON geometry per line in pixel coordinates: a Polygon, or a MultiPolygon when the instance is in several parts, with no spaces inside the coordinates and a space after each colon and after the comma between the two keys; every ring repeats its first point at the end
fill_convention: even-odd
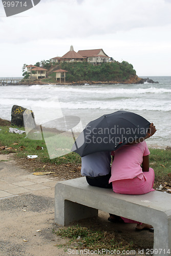
{"type": "Polygon", "coordinates": [[[133,65],[116,61],[103,49],[70,51],[62,57],[23,66],[27,84],[143,83],[133,65]]]}

